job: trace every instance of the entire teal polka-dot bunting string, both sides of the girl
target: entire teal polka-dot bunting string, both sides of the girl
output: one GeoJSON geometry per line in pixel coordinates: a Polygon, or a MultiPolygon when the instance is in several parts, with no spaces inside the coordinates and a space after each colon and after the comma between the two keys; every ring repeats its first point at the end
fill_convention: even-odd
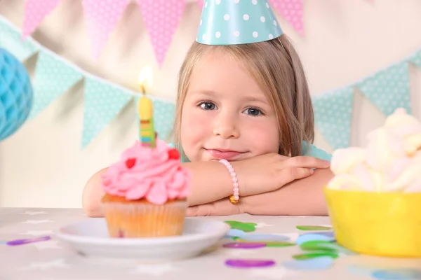
{"type": "MultiPolygon", "coordinates": [[[[34,106],[30,118],[36,117],[72,85],[84,80],[82,148],[86,147],[121,110],[136,92],[103,80],[51,52],[0,17],[0,47],[24,61],[38,52],[34,79],[34,106]]],[[[409,113],[410,87],[408,63],[421,68],[421,48],[400,62],[381,69],[346,87],[318,94],[312,98],[316,127],[333,148],[349,146],[354,89],[358,88],[382,113],[389,115],[403,107],[409,113]]],[[[156,130],[161,139],[171,131],[175,104],[152,97],[156,130]]]]}

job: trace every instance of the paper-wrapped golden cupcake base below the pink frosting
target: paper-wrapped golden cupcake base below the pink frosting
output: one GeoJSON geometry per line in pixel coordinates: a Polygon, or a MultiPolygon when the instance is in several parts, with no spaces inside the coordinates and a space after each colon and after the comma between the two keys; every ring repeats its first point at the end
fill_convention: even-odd
{"type": "Polygon", "coordinates": [[[102,209],[110,237],[169,237],[182,235],[187,202],[105,202],[102,209]]]}

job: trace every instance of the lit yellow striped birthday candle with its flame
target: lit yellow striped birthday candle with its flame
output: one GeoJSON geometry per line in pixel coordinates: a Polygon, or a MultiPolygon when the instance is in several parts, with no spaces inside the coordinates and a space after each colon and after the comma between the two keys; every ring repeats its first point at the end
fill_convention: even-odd
{"type": "Polygon", "coordinates": [[[152,100],[146,97],[145,79],[149,78],[149,84],[152,83],[152,70],[145,67],[140,73],[140,90],[143,96],[138,101],[138,113],[140,118],[140,141],[143,146],[155,148],[156,134],[154,130],[154,106],[152,100]],[[148,76],[149,75],[149,76],[148,76]]]}

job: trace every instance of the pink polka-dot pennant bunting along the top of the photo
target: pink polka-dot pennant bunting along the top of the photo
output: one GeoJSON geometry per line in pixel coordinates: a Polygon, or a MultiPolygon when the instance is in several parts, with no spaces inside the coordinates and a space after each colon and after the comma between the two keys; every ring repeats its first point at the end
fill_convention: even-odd
{"type": "MultiPolygon", "coordinates": [[[[91,38],[91,50],[95,59],[98,59],[107,44],[109,35],[116,23],[132,0],[80,0],[86,27],[91,38]]],[[[162,66],[166,52],[173,40],[173,34],[185,10],[186,0],[133,0],[138,3],[142,18],[145,22],[156,61],[162,66]]],[[[206,0],[196,0],[199,8],[206,8],[206,0]]],[[[210,0],[208,0],[210,1],[210,0]]],[[[213,1],[213,0],[212,0],[213,1]]],[[[221,1],[221,0],[215,0],[221,1]]],[[[223,0],[227,1],[227,0],[223,0]]],[[[235,1],[235,0],[234,0],[235,1]]],[[[250,0],[269,1],[273,8],[294,29],[304,36],[303,0],[250,0]]],[[[22,38],[27,38],[36,30],[44,18],[53,12],[62,0],[26,0],[22,38]]]]}

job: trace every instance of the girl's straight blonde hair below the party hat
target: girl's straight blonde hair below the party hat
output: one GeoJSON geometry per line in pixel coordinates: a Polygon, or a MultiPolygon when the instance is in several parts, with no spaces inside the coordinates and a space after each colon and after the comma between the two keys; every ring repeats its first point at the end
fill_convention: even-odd
{"type": "Polygon", "coordinates": [[[269,102],[274,106],[279,130],[279,153],[302,155],[302,141],[314,141],[314,115],[309,87],[300,58],[285,35],[270,41],[241,45],[203,45],[194,42],[178,77],[173,140],[182,151],[182,108],[194,67],[209,52],[222,50],[241,59],[269,102]]]}

